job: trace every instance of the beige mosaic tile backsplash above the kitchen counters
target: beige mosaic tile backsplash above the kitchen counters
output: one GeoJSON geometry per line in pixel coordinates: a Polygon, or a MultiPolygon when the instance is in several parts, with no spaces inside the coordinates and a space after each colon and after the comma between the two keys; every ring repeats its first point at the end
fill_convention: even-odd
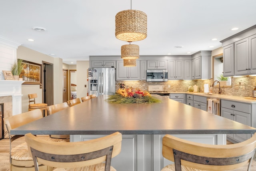
{"type": "MultiPolygon", "coordinates": [[[[120,83],[128,87],[148,90],[148,85],[164,85],[164,91],[183,92],[188,91],[188,86],[198,85],[198,91],[204,92],[204,84],[212,84],[213,80],[169,80],[168,82],[146,82],[146,81],[116,81],[116,89],[120,83]]],[[[241,97],[251,97],[252,90],[256,85],[256,77],[232,78],[231,88],[222,88],[222,94],[237,95],[241,97]],[[235,88],[235,85],[236,86],[235,88]]],[[[214,86],[213,93],[218,93],[218,86],[214,86]]]]}

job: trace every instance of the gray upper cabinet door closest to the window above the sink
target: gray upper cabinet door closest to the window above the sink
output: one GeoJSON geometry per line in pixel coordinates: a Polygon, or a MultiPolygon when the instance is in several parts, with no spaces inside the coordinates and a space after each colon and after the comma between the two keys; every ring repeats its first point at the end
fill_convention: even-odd
{"type": "Polygon", "coordinates": [[[234,44],[223,47],[223,76],[234,76],[234,44]]]}

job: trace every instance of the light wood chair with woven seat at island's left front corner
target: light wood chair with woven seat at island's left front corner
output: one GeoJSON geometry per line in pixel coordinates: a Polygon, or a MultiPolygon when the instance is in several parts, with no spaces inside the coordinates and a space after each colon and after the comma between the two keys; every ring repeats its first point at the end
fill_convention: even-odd
{"type": "MultiPolygon", "coordinates": [[[[29,169],[33,170],[34,162],[32,157],[29,156],[27,143],[24,142],[17,145],[16,147],[12,147],[12,142],[24,135],[10,135],[10,130],[40,118],[42,118],[42,112],[40,109],[4,118],[4,123],[10,138],[9,155],[11,171],[28,171],[29,169]]],[[[40,165],[40,168],[46,170],[47,166],[40,165]]]]}

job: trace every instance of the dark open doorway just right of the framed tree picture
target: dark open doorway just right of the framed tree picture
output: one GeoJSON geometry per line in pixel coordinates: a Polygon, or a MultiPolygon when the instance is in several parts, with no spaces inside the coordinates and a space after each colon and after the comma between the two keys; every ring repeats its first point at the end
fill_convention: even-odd
{"type": "Polygon", "coordinates": [[[44,61],[42,63],[42,102],[50,106],[53,105],[53,64],[44,61]]]}

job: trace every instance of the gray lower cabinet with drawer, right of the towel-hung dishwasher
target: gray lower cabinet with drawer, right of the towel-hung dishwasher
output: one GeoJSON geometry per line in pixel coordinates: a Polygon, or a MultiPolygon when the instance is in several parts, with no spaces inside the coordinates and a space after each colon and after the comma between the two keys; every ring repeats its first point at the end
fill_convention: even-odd
{"type": "MultiPolygon", "coordinates": [[[[251,126],[251,104],[222,100],[221,116],[251,126]]],[[[245,141],[250,137],[250,134],[227,134],[227,139],[233,143],[245,141]]]]}

